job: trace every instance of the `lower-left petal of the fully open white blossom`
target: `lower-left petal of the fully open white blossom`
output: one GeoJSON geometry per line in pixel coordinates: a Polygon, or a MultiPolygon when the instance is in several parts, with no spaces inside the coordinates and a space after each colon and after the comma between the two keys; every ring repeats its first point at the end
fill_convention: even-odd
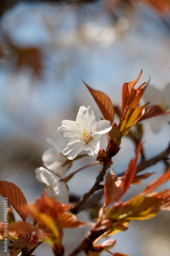
{"type": "Polygon", "coordinates": [[[67,156],[68,159],[73,160],[77,154],[85,149],[86,144],[83,141],[69,142],[67,147],[63,150],[63,155],[67,156]]]}

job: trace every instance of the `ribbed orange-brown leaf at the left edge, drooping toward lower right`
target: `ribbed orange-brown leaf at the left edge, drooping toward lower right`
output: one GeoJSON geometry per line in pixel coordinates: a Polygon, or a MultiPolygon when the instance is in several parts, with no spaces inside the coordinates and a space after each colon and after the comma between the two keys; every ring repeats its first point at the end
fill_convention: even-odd
{"type": "Polygon", "coordinates": [[[8,202],[14,207],[22,220],[25,221],[28,214],[21,212],[20,207],[26,205],[27,201],[19,187],[11,182],[0,181],[0,194],[8,198],[8,202]]]}

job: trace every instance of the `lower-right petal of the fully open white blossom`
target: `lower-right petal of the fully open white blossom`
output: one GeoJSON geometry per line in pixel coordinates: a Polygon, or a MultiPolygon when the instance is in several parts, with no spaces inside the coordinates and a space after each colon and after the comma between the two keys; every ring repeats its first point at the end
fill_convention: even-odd
{"type": "Polygon", "coordinates": [[[100,149],[100,135],[94,136],[94,138],[88,142],[85,151],[88,155],[97,157],[100,149]]]}

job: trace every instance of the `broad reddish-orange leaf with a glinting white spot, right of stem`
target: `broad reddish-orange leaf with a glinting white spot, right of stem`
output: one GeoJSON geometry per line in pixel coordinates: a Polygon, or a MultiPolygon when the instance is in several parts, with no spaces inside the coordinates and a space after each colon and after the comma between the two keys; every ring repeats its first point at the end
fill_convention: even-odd
{"type": "Polygon", "coordinates": [[[114,178],[114,173],[108,173],[104,183],[104,202],[105,205],[109,205],[111,202],[117,199],[117,197],[122,192],[122,182],[121,180],[116,180],[114,178]]]}

